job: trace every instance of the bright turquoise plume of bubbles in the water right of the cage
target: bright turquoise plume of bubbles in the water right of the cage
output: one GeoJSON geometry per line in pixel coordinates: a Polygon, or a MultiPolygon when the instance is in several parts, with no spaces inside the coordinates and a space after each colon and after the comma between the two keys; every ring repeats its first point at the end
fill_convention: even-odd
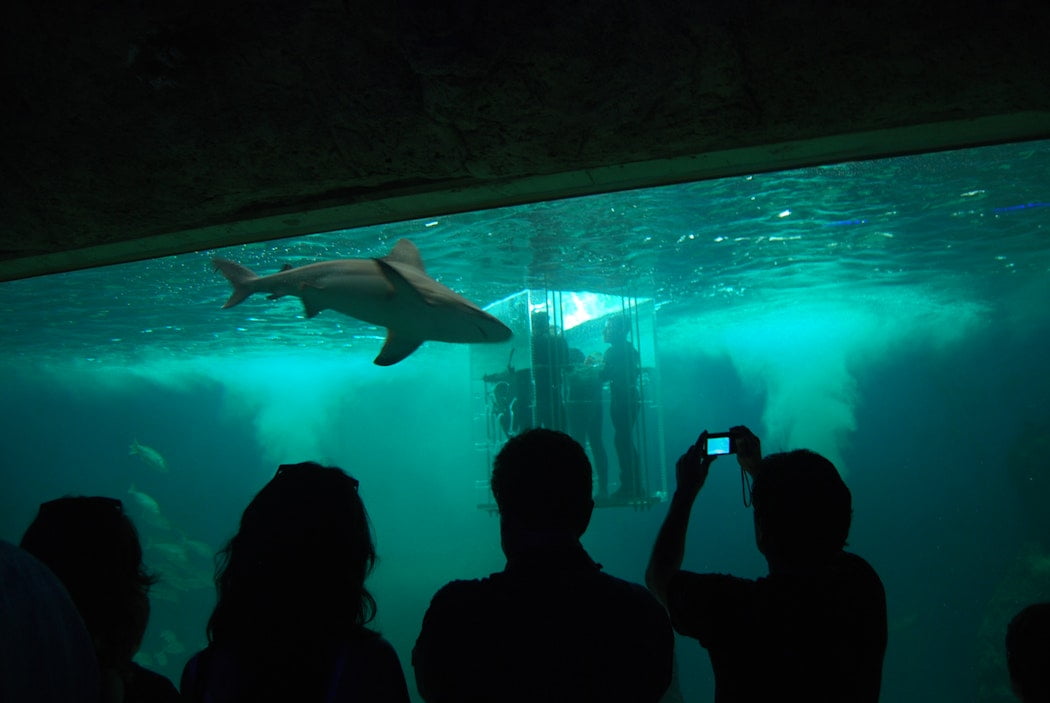
{"type": "Polygon", "coordinates": [[[671,337],[666,346],[687,345],[684,355],[694,354],[702,339],[705,353],[728,358],[742,382],[764,396],[766,452],[812,449],[845,474],[843,449],[857,428],[858,379],[900,349],[958,341],[984,315],[975,302],[910,291],[848,302],[786,300],[775,312],[723,308],[665,334],[671,337]]]}

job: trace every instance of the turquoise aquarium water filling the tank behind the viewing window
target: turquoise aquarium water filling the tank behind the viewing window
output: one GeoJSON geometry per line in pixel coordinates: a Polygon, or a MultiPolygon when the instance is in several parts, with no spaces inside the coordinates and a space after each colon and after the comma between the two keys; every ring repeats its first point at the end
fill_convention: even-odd
{"type": "MultiPolygon", "coordinates": [[[[247,502],[278,463],[342,466],[375,525],[376,624],[412,682],[434,592],[503,563],[477,508],[480,347],[428,342],[380,368],[381,329],[307,320],[294,298],[219,310],[229,286],[210,265],[272,273],[407,237],[479,304],[523,290],[651,299],[656,454],[673,462],[700,429],[742,423],[766,451],[828,455],[854,492],[852,549],[886,585],[883,700],[1010,700],[1005,623],[1050,598],[1048,174],[1050,143],[1007,145],[0,284],[0,536],[17,541],[62,494],[123,498],[162,577],[141,659],[177,681],[204,643],[211,554],[247,502]],[[129,454],[134,442],[167,471],[129,454]]],[[[763,573],[739,491],[732,462],[716,464],[687,568],[763,573]]],[[[598,510],[585,545],[640,581],[665,509],[598,510]]],[[[706,653],[680,640],[677,656],[685,700],[711,700],[706,653]]]]}

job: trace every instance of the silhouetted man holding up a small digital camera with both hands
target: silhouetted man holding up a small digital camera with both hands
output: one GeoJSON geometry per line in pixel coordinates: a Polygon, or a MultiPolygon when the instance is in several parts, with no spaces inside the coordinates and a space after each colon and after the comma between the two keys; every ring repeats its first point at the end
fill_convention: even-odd
{"type": "Polygon", "coordinates": [[[705,454],[704,432],[678,460],[677,490],[646,572],[649,588],[678,633],[707,647],[719,703],[877,701],[886,599],[875,570],[842,549],[849,489],[820,454],[761,459],[758,438],[746,427],[732,432],[740,468],[754,481],[755,539],[769,575],[681,571],[689,514],[715,459],[705,454]]]}

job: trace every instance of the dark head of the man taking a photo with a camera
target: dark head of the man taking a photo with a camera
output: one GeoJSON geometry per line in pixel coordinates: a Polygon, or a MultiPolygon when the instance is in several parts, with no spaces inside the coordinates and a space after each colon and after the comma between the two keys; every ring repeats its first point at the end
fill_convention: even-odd
{"type": "Polygon", "coordinates": [[[840,551],[853,497],[835,465],[807,449],[770,454],[752,487],[755,536],[768,559],[798,562],[840,551]]]}

